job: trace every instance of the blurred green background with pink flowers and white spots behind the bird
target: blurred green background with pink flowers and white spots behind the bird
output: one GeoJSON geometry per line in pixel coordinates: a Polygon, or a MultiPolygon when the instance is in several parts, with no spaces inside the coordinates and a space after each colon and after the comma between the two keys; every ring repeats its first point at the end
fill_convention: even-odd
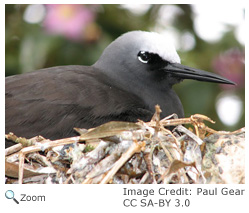
{"type": "Polygon", "coordinates": [[[167,34],[182,64],[237,86],[184,80],[174,86],[185,116],[209,116],[216,130],[245,126],[245,10],[239,5],[5,5],[5,75],[57,65],[91,65],[131,30],[167,34]],[[210,8],[209,8],[210,7],[210,8]]]}

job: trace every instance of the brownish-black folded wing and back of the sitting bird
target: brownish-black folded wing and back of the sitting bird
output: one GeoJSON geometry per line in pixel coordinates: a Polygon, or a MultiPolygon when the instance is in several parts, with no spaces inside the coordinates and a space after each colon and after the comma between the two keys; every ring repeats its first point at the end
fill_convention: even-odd
{"type": "Polygon", "coordinates": [[[92,67],[62,66],[5,80],[6,133],[50,139],[72,136],[110,120],[148,120],[139,97],[119,89],[92,67]]]}

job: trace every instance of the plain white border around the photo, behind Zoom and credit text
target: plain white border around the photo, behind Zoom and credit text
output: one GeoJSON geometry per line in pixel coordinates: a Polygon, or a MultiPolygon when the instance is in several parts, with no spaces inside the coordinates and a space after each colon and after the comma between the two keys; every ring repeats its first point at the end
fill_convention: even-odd
{"type": "MultiPolygon", "coordinates": [[[[117,4],[117,3],[130,3],[131,1],[105,1],[105,4],[117,4]]],[[[143,210],[143,212],[151,212],[153,210],[165,212],[167,208],[125,208],[122,205],[123,199],[126,196],[123,196],[123,188],[124,187],[132,187],[132,188],[153,188],[157,189],[160,186],[157,185],[6,185],[4,184],[4,94],[5,83],[4,83],[4,70],[5,70],[5,39],[4,39],[4,26],[5,26],[5,3],[7,4],[30,4],[37,3],[36,1],[3,1],[1,2],[0,14],[1,14],[1,100],[2,104],[0,105],[1,109],[1,144],[0,144],[0,155],[1,161],[1,173],[0,173],[0,203],[1,209],[4,211],[10,212],[71,212],[71,211],[108,211],[108,212],[119,212],[122,210],[127,210],[131,212],[137,212],[143,210]],[[46,202],[22,202],[19,205],[16,205],[12,200],[7,200],[4,197],[4,193],[6,190],[12,189],[15,191],[16,199],[20,199],[20,194],[26,193],[29,195],[45,195],[46,202]]],[[[41,3],[41,2],[39,2],[41,3]]],[[[93,1],[45,1],[43,3],[93,3],[93,1]]],[[[103,4],[103,1],[94,1],[96,4],[103,4]]],[[[152,1],[136,1],[136,4],[148,4],[152,3],[152,1]]],[[[153,1],[153,4],[172,4],[176,3],[175,1],[153,1]]],[[[186,1],[177,1],[179,4],[186,4],[186,1]]],[[[200,3],[200,1],[188,1],[188,4],[200,3]]],[[[217,7],[217,4],[222,7],[226,7],[227,4],[242,4],[246,7],[246,2],[237,0],[237,1],[221,1],[210,0],[206,1],[207,4],[213,4],[214,7],[217,7]]],[[[247,9],[247,8],[246,8],[247,9]]],[[[212,15],[212,11],[210,11],[210,15],[212,15]]],[[[231,14],[232,15],[232,14],[231,14]]],[[[246,23],[248,23],[246,17],[246,23]]],[[[248,25],[248,24],[247,24],[248,25]]],[[[247,37],[248,37],[248,28],[247,28],[247,37]]],[[[246,41],[247,44],[248,40],[246,41]]],[[[248,61],[248,52],[246,51],[246,62],[248,61]]],[[[247,69],[246,63],[246,70],[247,69]]],[[[248,74],[246,73],[246,82],[248,82],[248,74]]],[[[246,84],[246,93],[248,92],[248,85],[246,84]]],[[[246,98],[246,108],[248,106],[248,98],[246,98]]],[[[246,126],[248,126],[248,119],[246,118],[246,126]]],[[[248,140],[246,140],[248,142],[248,140]]],[[[246,156],[248,156],[248,146],[246,146],[246,156]]],[[[248,162],[248,157],[246,157],[246,162],[248,162]]],[[[246,164],[248,167],[248,163],[246,164]]],[[[248,168],[246,169],[246,183],[248,183],[248,168]]],[[[164,187],[176,188],[180,185],[165,185],[164,187]]],[[[174,212],[193,212],[201,211],[206,212],[206,210],[210,211],[215,210],[215,212],[224,212],[224,211],[244,211],[248,209],[248,184],[245,185],[183,185],[182,187],[187,187],[191,190],[195,190],[196,187],[203,188],[214,188],[217,187],[220,190],[222,187],[229,188],[247,188],[246,196],[196,196],[191,195],[190,201],[191,206],[189,208],[170,208],[174,212]]],[[[153,196],[153,199],[159,199],[162,197],[153,196]]],[[[168,197],[170,198],[170,197],[168,197]]],[[[184,199],[184,196],[179,197],[180,199],[184,199]]],[[[174,197],[172,197],[174,199],[174,197]]]]}

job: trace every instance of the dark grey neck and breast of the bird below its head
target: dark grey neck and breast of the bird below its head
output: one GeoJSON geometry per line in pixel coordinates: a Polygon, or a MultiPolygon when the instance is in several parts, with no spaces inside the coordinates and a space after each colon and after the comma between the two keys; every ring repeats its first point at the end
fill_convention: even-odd
{"type": "Polygon", "coordinates": [[[171,88],[171,85],[164,84],[164,82],[142,82],[139,77],[127,77],[129,73],[118,73],[114,71],[106,72],[103,70],[101,71],[99,68],[98,70],[105,74],[108,79],[110,79],[111,84],[116,88],[120,88],[121,90],[136,95],[139,99],[142,99],[145,105],[152,112],[155,110],[155,105],[158,104],[162,110],[162,117],[166,117],[173,113],[178,114],[179,117],[184,116],[181,101],[171,88]],[[129,81],[126,79],[129,79],[129,81]]]}

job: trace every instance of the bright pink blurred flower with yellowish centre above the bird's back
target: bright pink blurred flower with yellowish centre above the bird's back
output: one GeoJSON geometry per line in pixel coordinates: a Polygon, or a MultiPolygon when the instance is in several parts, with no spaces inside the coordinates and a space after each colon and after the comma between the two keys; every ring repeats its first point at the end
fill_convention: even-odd
{"type": "Polygon", "coordinates": [[[85,28],[95,19],[93,11],[80,4],[48,4],[46,8],[45,29],[72,40],[82,39],[85,28]]]}

